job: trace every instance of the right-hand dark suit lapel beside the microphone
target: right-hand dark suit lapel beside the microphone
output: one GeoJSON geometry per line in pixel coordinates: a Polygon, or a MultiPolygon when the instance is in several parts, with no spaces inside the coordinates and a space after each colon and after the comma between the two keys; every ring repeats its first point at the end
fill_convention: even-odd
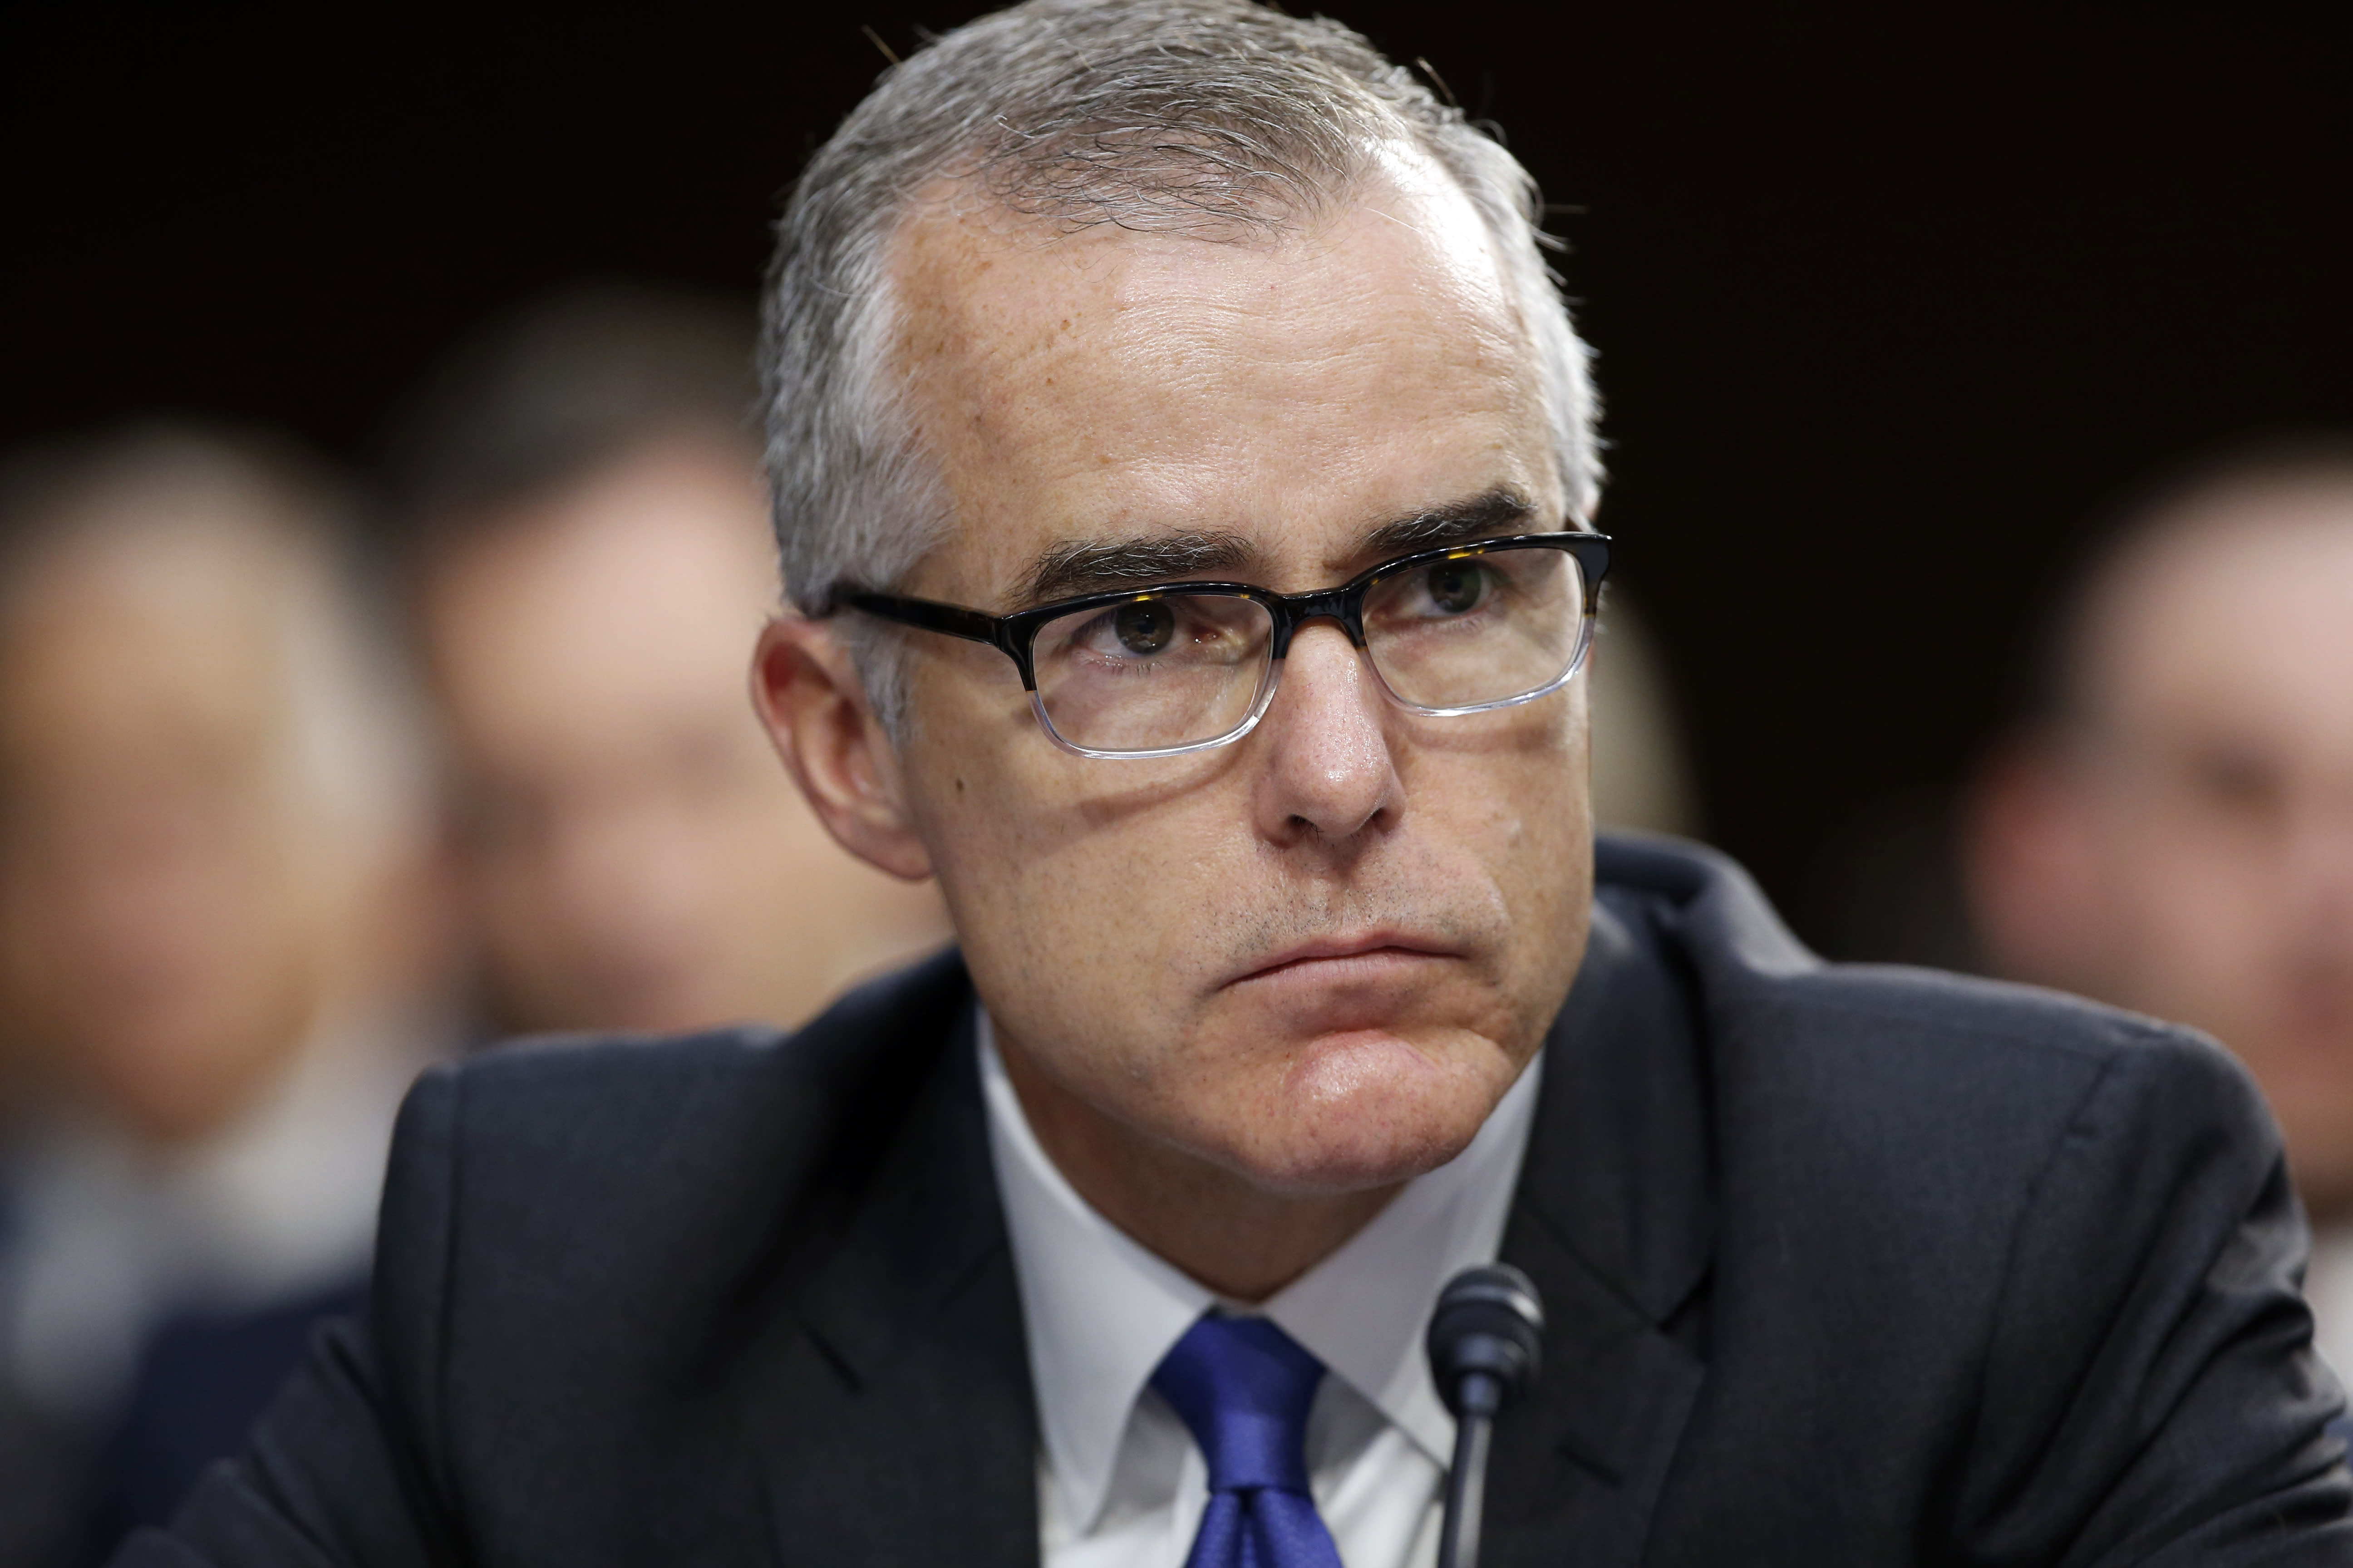
{"type": "Polygon", "coordinates": [[[1640,1561],[1704,1378],[1711,1241],[1689,990],[1595,903],[1504,1232],[1504,1258],[1544,1295],[1546,1335],[1537,1394],[1497,1425],[1485,1563],[1640,1561]]]}

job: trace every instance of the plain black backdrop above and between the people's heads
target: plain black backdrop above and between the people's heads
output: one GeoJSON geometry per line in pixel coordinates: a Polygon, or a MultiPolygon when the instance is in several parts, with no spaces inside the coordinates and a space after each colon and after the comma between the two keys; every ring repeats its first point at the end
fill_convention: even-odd
{"type": "MultiPolygon", "coordinates": [[[[859,24],[906,52],[976,9],[12,14],[0,442],[184,414],[365,465],[539,289],[748,292],[882,63],[859,24]]],[[[2353,428],[2353,7],[1327,9],[1565,207],[1602,527],[1708,835],[1835,952],[1934,945],[1854,886],[1934,849],[2085,541],[2184,463],[2353,428]]]]}

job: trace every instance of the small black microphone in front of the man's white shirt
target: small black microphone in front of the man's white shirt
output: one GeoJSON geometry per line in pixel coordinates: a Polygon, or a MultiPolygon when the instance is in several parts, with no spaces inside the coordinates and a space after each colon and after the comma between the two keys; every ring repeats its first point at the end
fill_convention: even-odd
{"type": "Polygon", "coordinates": [[[1454,1413],[1454,1469],[1447,1472],[1438,1568],[1478,1568],[1494,1418],[1537,1387],[1541,1340],[1544,1302],[1534,1281],[1508,1262],[1464,1269],[1438,1293],[1424,1342],[1438,1396],[1454,1413]]]}

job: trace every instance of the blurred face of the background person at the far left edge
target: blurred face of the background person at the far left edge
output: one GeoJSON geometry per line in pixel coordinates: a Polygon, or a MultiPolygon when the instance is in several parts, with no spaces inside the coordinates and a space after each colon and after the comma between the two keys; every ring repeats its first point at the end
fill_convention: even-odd
{"type": "Polygon", "coordinates": [[[0,646],[0,969],[40,1072],[158,1143],[242,1112],[346,933],[301,785],[289,574],[235,517],[99,517],[0,646]]]}

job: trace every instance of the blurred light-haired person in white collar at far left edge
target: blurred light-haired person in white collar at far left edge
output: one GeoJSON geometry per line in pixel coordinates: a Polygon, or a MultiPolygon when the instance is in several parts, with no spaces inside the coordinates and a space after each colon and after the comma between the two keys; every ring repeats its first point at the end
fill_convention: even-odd
{"type": "Polygon", "coordinates": [[[186,433],[0,491],[12,1566],[167,1516],[365,1288],[435,936],[416,731],[336,517],[301,463],[186,433]]]}

